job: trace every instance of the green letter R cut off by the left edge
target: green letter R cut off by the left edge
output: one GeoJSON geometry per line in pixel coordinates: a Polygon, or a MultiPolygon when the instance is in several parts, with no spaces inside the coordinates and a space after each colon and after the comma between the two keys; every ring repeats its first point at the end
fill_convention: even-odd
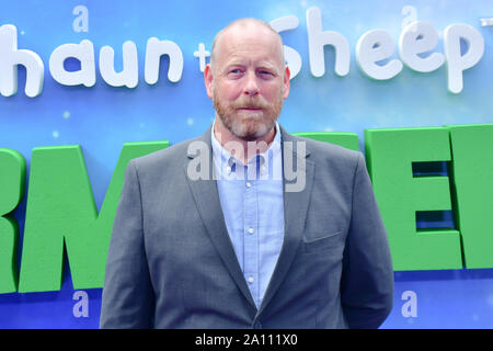
{"type": "Polygon", "coordinates": [[[18,222],[9,213],[24,194],[25,160],[11,149],[0,149],[0,294],[18,290],[18,222]]]}

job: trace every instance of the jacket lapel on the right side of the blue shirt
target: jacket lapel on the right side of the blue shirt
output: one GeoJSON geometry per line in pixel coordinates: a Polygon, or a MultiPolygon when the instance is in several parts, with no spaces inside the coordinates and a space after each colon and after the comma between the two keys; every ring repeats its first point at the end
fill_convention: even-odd
{"type": "MultiPolygon", "coordinates": [[[[265,296],[263,298],[262,305],[257,312],[260,315],[265,306],[270,303],[274,294],[277,292],[280,283],[283,282],[286,273],[288,272],[296,252],[298,251],[299,245],[302,239],[302,234],[305,229],[305,219],[307,217],[308,205],[310,202],[310,194],[313,184],[313,173],[314,163],[308,159],[309,150],[306,152],[298,152],[297,143],[300,140],[293,137],[286,131],[280,127],[283,137],[283,174],[284,174],[284,226],[285,236],[283,248],[280,250],[279,258],[276,263],[276,268],[268,283],[265,296]],[[305,155],[303,155],[305,154],[305,155]],[[305,163],[305,177],[306,183],[301,191],[290,191],[289,184],[296,182],[296,180],[286,179],[286,158],[293,157],[293,169],[299,170],[305,163]]],[[[289,162],[289,161],[288,161],[289,162]]],[[[302,169],[301,169],[302,172],[302,169]]],[[[299,180],[298,180],[299,181],[299,180]]]]}

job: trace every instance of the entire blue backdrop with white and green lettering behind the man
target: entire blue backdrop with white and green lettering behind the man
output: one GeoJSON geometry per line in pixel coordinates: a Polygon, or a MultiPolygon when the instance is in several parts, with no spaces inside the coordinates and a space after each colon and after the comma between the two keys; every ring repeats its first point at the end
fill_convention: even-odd
{"type": "MultiPolygon", "coordinates": [[[[493,2],[0,1],[0,328],[98,328],[129,159],[202,135],[215,34],[283,37],[280,124],[365,156],[381,328],[493,328],[493,2]]],[[[172,201],[172,200],[169,200],[172,201]]]]}

